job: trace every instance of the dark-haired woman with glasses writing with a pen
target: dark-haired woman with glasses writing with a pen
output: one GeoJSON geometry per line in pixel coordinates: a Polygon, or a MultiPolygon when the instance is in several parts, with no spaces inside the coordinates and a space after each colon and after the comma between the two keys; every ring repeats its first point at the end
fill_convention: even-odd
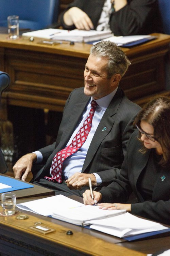
{"type": "Polygon", "coordinates": [[[170,225],[170,98],[158,97],[137,115],[137,127],[117,178],[100,192],[83,194],[84,204],[102,209],[126,209],[138,216],[170,225]],[[135,193],[138,202],[123,204],[135,193]]]}

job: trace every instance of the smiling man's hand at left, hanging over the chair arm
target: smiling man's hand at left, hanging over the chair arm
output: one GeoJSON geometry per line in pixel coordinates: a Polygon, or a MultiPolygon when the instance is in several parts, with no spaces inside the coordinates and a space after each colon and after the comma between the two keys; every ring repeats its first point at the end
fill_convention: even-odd
{"type": "Polygon", "coordinates": [[[26,181],[28,174],[31,172],[32,164],[36,160],[37,155],[35,153],[22,156],[13,167],[15,178],[26,181]]]}

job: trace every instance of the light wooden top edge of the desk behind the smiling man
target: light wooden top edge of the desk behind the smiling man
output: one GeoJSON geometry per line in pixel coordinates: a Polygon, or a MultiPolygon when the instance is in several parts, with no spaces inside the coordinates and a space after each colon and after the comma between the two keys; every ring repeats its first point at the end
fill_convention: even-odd
{"type": "MultiPolygon", "coordinates": [[[[158,38],[142,45],[137,45],[131,48],[122,48],[127,55],[134,55],[136,52],[143,51],[145,49],[152,49],[153,47],[161,46],[163,43],[170,43],[170,35],[161,33],[152,33],[151,35],[156,35],[158,38]]],[[[91,48],[91,44],[86,43],[75,43],[74,45],[68,44],[58,44],[55,46],[41,45],[38,44],[40,38],[36,38],[33,42],[29,41],[29,37],[20,37],[19,40],[9,40],[7,39],[7,34],[0,34],[0,47],[4,48],[15,48],[24,49],[32,51],[43,51],[51,54],[60,54],[73,57],[87,58],[91,48]],[[25,39],[26,38],[26,39],[25,39]]]]}

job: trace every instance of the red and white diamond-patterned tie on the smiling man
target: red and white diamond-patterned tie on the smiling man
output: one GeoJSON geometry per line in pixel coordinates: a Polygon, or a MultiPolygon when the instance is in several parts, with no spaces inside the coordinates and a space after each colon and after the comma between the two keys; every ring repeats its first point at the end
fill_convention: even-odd
{"type": "Polygon", "coordinates": [[[84,142],[86,141],[86,138],[91,130],[92,119],[93,119],[93,116],[95,113],[96,106],[97,106],[97,103],[96,103],[96,101],[93,100],[91,102],[90,112],[89,112],[86,120],[84,121],[82,127],[80,128],[80,130],[75,135],[75,137],[72,139],[71,144],[56,153],[56,155],[53,158],[52,165],[50,168],[51,177],[45,176],[44,178],[46,180],[58,182],[58,183],[62,182],[63,162],[68,156],[77,152],[78,149],[81,148],[82,145],[84,144],[84,142]]]}

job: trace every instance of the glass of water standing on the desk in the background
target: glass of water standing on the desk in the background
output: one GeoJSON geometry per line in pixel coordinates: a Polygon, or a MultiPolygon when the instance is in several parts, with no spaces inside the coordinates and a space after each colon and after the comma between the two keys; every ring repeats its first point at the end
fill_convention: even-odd
{"type": "Polygon", "coordinates": [[[19,38],[19,16],[12,15],[7,17],[8,34],[10,39],[19,38]]]}

